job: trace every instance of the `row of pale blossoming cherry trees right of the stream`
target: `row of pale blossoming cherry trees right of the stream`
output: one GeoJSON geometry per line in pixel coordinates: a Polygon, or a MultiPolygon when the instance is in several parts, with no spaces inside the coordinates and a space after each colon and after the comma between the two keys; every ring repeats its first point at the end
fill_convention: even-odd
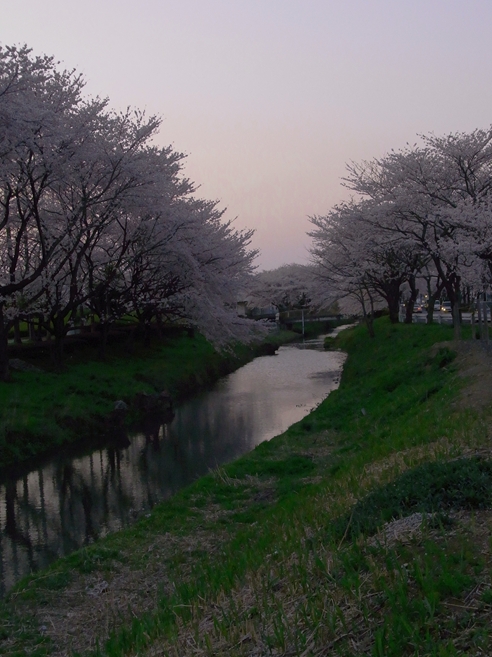
{"type": "Polygon", "coordinates": [[[383,298],[393,322],[402,286],[411,321],[425,281],[431,306],[445,291],[458,336],[463,290],[479,293],[492,281],[492,128],[424,136],[347,168],[354,197],[311,217],[320,275],[340,297],[357,298],[368,318],[383,298]]]}

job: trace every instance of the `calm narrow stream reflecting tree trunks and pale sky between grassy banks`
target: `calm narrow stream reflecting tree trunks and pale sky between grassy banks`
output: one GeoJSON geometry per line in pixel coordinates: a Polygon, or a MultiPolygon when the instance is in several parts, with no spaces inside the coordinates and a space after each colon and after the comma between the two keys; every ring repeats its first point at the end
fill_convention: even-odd
{"type": "Polygon", "coordinates": [[[0,594],[55,558],[125,527],[157,502],[302,419],[337,387],[344,355],[322,341],[256,358],[125,447],[60,455],[0,482],[0,594]]]}

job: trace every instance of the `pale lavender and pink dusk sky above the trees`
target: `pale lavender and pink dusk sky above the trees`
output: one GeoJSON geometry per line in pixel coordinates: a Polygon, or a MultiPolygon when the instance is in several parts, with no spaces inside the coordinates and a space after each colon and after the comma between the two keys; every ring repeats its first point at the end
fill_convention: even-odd
{"type": "Polygon", "coordinates": [[[0,44],[162,118],[259,270],[309,261],[350,162],[492,124],[491,0],[3,0],[0,44]]]}

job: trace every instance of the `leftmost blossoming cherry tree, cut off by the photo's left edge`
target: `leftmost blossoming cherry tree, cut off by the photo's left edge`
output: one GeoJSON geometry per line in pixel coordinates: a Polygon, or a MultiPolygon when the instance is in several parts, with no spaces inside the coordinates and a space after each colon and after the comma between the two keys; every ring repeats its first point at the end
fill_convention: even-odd
{"type": "Polygon", "coordinates": [[[0,378],[8,378],[8,330],[39,295],[63,249],[65,219],[54,189],[73,153],[70,118],[82,81],[52,58],[0,48],[0,378]]]}

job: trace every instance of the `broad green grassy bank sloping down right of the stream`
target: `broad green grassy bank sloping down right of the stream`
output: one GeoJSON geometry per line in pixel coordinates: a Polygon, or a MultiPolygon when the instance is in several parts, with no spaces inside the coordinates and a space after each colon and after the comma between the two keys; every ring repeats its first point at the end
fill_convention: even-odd
{"type": "Polygon", "coordinates": [[[451,337],[385,319],[374,340],[342,332],[337,391],[24,580],[0,652],[491,654],[490,357],[451,337]]]}

